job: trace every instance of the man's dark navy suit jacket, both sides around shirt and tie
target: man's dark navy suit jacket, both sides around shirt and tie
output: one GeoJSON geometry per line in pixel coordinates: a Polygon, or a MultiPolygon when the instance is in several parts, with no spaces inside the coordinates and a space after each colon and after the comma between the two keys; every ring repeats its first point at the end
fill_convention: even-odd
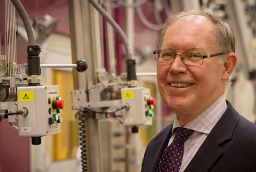
{"type": "MultiPolygon", "coordinates": [[[[227,101],[228,108],[187,165],[187,172],[256,171],[256,125],[243,118],[227,101]]],[[[172,127],[164,128],[149,143],[142,171],[155,172],[172,127]]]]}

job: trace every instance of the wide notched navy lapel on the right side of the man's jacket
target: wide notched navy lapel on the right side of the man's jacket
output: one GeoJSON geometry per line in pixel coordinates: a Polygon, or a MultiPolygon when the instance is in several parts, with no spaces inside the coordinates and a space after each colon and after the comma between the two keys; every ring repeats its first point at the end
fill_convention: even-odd
{"type": "Polygon", "coordinates": [[[239,114],[228,101],[227,103],[227,110],[187,165],[185,171],[209,171],[221,157],[223,152],[220,145],[230,142],[235,126],[239,121],[239,114]]]}

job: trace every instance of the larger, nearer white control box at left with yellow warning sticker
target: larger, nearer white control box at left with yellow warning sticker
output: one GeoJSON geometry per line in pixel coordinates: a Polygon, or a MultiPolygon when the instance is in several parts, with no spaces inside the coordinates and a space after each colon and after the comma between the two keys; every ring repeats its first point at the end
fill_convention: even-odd
{"type": "MultiPolygon", "coordinates": [[[[19,136],[41,137],[60,133],[58,85],[18,87],[18,109],[27,108],[27,115],[19,115],[19,136]]],[[[64,106],[64,105],[63,105],[64,106]]]]}

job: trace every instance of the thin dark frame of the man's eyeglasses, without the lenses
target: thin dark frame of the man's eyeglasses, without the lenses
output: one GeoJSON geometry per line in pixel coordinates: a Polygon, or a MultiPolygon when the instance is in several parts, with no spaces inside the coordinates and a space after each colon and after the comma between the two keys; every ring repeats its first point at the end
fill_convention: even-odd
{"type": "MultiPolygon", "coordinates": [[[[175,54],[175,53],[174,53],[174,58],[173,58],[173,61],[172,61],[172,62],[160,62],[159,60],[157,60],[157,57],[156,57],[156,56],[157,56],[157,53],[156,53],[157,51],[160,51],[160,52],[164,51],[164,52],[171,52],[171,53],[174,53],[174,52],[173,52],[173,51],[168,51],[168,50],[156,50],[156,51],[153,52],[153,53],[155,54],[156,62],[159,62],[159,63],[166,63],[166,64],[172,64],[172,63],[174,62],[174,60],[175,60],[175,58],[176,58],[177,55],[181,57],[181,55],[184,54],[184,53],[190,53],[190,52],[184,52],[184,53],[181,53],[181,54],[175,54]]],[[[200,54],[200,55],[203,57],[203,58],[202,58],[202,64],[203,64],[205,58],[216,57],[216,56],[220,56],[220,55],[227,54],[227,53],[221,52],[221,53],[210,54],[210,55],[203,55],[203,54],[201,54],[201,53],[195,53],[195,54],[200,54]]],[[[183,64],[185,64],[182,59],[181,59],[181,62],[182,62],[183,64]]],[[[185,65],[188,65],[188,66],[199,66],[199,65],[202,65],[202,64],[194,64],[194,65],[193,65],[193,64],[185,64],[185,65]]]]}

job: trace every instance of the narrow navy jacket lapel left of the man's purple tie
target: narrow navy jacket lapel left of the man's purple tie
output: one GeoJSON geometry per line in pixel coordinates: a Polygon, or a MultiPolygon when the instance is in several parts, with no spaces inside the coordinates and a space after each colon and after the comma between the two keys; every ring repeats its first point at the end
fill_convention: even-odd
{"type": "Polygon", "coordinates": [[[165,137],[157,140],[156,142],[154,142],[152,144],[152,149],[150,149],[150,152],[149,152],[150,158],[148,159],[148,162],[150,164],[147,165],[147,169],[145,169],[144,171],[147,171],[147,172],[157,171],[157,168],[159,167],[159,163],[160,163],[160,160],[162,157],[162,153],[163,153],[164,149],[166,149],[169,139],[172,136],[173,124],[170,125],[169,128],[170,129],[168,130],[167,134],[165,134],[165,137]]]}

